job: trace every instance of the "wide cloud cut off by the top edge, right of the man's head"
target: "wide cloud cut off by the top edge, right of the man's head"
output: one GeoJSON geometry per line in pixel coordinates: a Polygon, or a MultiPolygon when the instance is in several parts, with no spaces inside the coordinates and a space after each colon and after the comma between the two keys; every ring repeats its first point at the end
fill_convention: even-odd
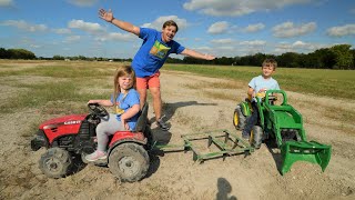
{"type": "Polygon", "coordinates": [[[190,0],[183,8],[190,11],[199,10],[209,16],[239,17],[256,11],[268,11],[292,4],[310,3],[312,0],[190,0]]]}

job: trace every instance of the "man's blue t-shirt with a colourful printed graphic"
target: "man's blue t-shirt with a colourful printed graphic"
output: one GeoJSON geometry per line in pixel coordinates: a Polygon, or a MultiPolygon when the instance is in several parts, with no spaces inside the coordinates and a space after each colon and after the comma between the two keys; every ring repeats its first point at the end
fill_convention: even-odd
{"type": "Polygon", "coordinates": [[[164,64],[170,53],[181,53],[185,48],[174,40],[165,43],[162,32],[149,28],[140,28],[143,43],[132,61],[136,77],[144,78],[154,74],[164,64]]]}

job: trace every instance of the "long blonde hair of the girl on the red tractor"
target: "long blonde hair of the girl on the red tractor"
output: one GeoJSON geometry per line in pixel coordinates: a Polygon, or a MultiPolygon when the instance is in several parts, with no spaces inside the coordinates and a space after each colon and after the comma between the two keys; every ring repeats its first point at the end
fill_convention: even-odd
{"type": "Polygon", "coordinates": [[[120,87],[120,83],[119,83],[119,78],[120,77],[125,77],[125,76],[130,76],[131,77],[131,79],[132,79],[132,87],[131,88],[136,89],[135,72],[132,69],[132,67],[131,66],[120,66],[115,70],[115,74],[114,74],[114,78],[113,78],[113,101],[114,101],[114,106],[116,106],[116,99],[121,93],[121,87],[120,87]]]}

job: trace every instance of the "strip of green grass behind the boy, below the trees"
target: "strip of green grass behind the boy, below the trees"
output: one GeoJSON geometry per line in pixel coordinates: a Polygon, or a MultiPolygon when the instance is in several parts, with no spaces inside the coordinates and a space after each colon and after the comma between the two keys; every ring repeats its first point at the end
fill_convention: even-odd
{"type": "MultiPolygon", "coordinates": [[[[163,69],[242,81],[245,86],[253,77],[260,76],[262,72],[260,67],[235,66],[165,64],[163,69]]],[[[355,96],[354,70],[277,68],[273,78],[286,91],[343,99],[353,99],[355,96]]]]}

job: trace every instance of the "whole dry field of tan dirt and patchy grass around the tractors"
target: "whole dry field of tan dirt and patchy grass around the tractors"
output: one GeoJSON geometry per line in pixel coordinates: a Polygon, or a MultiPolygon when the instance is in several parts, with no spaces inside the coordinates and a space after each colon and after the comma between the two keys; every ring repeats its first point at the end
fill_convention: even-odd
{"type": "MultiPolygon", "coordinates": [[[[355,199],[355,101],[287,90],[308,140],[333,147],[325,172],[296,162],[281,176],[277,149],[262,144],[251,156],[202,164],[190,151],[151,154],[148,176],[134,183],[121,183],[109,168],[94,164],[62,179],[47,178],[38,168],[45,149],[30,148],[39,123],[87,113],[89,99],[108,98],[115,64],[0,61],[0,199],[355,199]]],[[[161,82],[172,128],[163,132],[152,123],[154,134],[176,144],[186,133],[227,129],[240,134],[232,117],[245,98],[245,80],[162,70],[161,82]]],[[[149,118],[153,116],[151,109],[149,118]]]]}

